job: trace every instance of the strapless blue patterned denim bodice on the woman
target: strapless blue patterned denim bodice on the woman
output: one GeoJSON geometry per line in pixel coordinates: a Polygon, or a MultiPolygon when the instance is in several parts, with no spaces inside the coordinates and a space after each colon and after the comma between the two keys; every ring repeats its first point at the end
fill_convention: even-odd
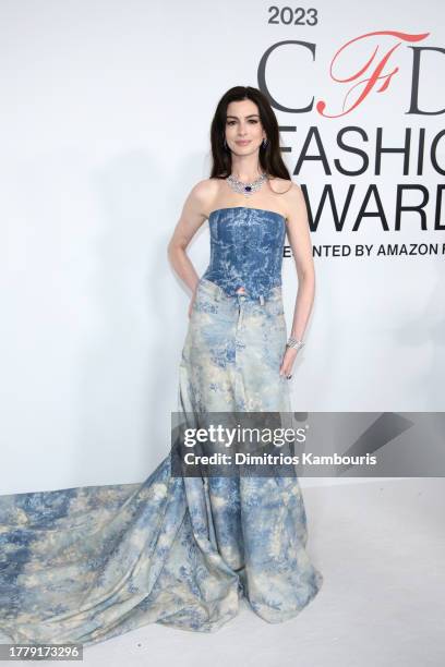
{"type": "Polygon", "coordinates": [[[263,208],[231,206],[208,217],[211,262],[203,278],[232,295],[240,287],[251,296],[267,296],[281,284],[286,219],[263,208]]]}

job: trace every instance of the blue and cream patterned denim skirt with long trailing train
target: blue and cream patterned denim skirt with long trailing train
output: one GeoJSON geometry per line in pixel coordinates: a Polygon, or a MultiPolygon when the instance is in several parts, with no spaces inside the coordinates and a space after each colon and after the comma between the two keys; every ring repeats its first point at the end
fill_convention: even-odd
{"type": "MultiPolygon", "coordinates": [[[[286,338],[280,286],[262,303],[202,277],[179,411],[289,411],[286,338]]],[[[152,622],[213,632],[242,596],[281,622],[322,585],[306,538],[297,477],[176,477],[171,454],[142,484],[0,496],[0,641],[89,645],[152,622]]]]}

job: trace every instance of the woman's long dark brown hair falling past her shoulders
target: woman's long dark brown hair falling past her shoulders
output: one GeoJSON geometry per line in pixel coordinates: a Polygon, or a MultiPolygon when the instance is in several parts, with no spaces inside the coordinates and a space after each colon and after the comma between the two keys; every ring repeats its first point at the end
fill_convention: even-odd
{"type": "Polygon", "coordinates": [[[267,144],[260,146],[260,165],[269,178],[290,181],[279,146],[279,131],[276,116],[267,97],[252,86],[234,86],[222,95],[216,107],[211,125],[212,171],[211,179],[226,179],[231,173],[231,151],[225,146],[227,107],[231,101],[251,99],[258,108],[260,119],[266,132],[267,144]]]}

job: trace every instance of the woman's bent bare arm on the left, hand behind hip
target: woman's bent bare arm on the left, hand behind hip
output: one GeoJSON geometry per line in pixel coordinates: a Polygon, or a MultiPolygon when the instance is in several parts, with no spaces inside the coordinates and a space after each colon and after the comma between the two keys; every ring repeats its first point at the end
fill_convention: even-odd
{"type": "Polygon", "coordinates": [[[209,186],[208,181],[200,181],[192,189],[185,199],[181,216],[175,228],[168,246],[167,255],[178,276],[192,291],[193,296],[200,280],[185,248],[196,231],[206,220],[208,210],[209,186]]]}

